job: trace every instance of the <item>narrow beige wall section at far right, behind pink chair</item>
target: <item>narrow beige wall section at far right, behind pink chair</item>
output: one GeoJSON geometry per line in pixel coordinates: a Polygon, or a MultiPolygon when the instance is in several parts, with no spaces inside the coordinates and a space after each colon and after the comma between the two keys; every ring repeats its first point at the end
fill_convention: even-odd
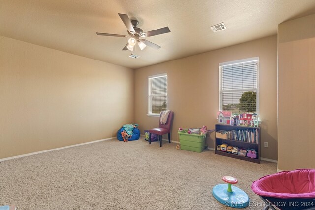
{"type": "Polygon", "coordinates": [[[315,14],[278,25],[278,169],[315,168],[315,14]]]}

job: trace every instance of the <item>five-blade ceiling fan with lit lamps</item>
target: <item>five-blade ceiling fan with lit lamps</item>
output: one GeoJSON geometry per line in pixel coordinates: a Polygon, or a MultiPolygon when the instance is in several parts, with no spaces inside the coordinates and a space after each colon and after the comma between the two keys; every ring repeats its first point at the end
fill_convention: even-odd
{"type": "Polygon", "coordinates": [[[126,35],[119,35],[119,34],[111,34],[111,33],[96,33],[99,36],[116,36],[116,37],[126,37],[128,39],[128,43],[126,46],[123,48],[123,50],[131,50],[133,51],[135,45],[138,43],[138,46],[141,50],[143,50],[146,46],[152,47],[154,49],[159,49],[161,48],[157,44],[154,44],[146,39],[142,39],[144,37],[149,37],[149,36],[156,36],[159,34],[163,33],[169,33],[171,32],[168,27],[156,29],[156,30],[151,30],[148,32],[143,32],[142,29],[138,28],[137,25],[139,21],[137,20],[130,20],[128,15],[126,14],[120,14],[118,13],[119,17],[122,19],[124,22],[129,36],[126,35]]]}

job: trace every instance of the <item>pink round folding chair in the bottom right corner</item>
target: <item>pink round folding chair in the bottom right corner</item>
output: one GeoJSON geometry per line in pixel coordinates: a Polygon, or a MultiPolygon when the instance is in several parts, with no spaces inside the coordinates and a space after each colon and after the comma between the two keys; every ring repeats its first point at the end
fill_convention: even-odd
{"type": "Polygon", "coordinates": [[[283,171],[252,183],[252,191],[266,202],[264,210],[315,210],[315,169],[283,171]],[[272,206],[273,205],[273,206],[272,206]]]}

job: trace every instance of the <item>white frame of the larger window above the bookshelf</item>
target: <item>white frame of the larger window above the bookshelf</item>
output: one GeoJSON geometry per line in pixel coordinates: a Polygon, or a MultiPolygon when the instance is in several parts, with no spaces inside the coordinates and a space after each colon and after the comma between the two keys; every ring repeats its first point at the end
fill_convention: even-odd
{"type": "Polygon", "coordinates": [[[223,104],[222,104],[222,95],[224,92],[240,92],[240,91],[256,91],[256,114],[259,116],[259,57],[252,57],[248,59],[241,59],[241,60],[233,60],[233,61],[228,61],[228,62],[223,62],[219,63],[219,111],[223,111],[223,104]],[[233,89],[233,90],[222,90],[222,83],[223,83],[223,78],[222,78],[222,71],[223,71],[223,66],[227,65],[235,65],[235,64],[240,64],[240,63],[246,63],[246,62],[252,62],[256,61],[257,62],[257,88],[241,88],[241,89],[233,89]]]}

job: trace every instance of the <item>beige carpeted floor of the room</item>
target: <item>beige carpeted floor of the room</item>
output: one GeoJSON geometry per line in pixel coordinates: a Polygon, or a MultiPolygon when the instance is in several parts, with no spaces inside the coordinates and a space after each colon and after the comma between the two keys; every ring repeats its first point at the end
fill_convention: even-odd
{"type": "MultiPolygon", "coordinates": [[[[276,173],[276,163],[255,164],[215,155],[176,150],[175,143],[149,145],[143,138],[115,139],[56,150],[0,163],[0,206],[18,210],[232,210],[211,194],[224,175],[248,193],[250,186],[276,173]]],[[[256,203],[257,202],[257,203],[256,203]]]]}

